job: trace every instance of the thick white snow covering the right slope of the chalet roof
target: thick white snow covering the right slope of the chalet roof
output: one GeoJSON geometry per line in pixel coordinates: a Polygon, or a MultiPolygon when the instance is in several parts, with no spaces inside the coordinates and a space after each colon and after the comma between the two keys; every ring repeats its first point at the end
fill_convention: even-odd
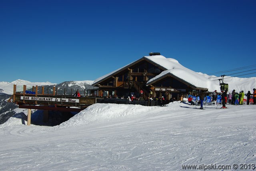
{"type": "Polygon", "coordinates": [[[173,74],[174,76],[201,88],[208,88],[208,91],[220,90],[220,85],[212,82],[208,78],[194,72],[184,66],[182,66],[177,60],[172,58],[165,58],[162,55],[157,56],[144,56],[148,60],[166,68],[166,71],[163,71],[158,76],[150,79],[147,84],[150,84],[154,80],[166,75],[166,74],[173,74]]]}

